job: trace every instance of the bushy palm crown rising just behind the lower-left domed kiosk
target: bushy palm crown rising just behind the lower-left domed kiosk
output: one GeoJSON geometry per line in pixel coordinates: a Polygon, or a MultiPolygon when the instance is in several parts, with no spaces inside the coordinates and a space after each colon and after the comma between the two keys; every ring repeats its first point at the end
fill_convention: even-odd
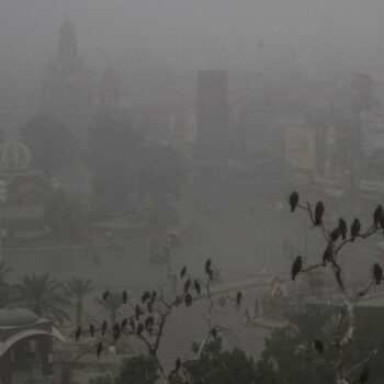
{"type": "Polygon", "coordinates": [[[61,284],[43,274],[29,276],[24,274],[16,284],[19,302],[36,315],[47,317],[53,321],[63,323],[69,316],[63,310],[68,300],[63,295],[61,284]]]}

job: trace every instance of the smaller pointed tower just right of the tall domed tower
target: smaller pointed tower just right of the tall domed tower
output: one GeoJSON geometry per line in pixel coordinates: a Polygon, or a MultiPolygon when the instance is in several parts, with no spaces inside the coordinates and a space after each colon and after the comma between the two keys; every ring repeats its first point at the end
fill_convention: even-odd
{"type": "Polygon", "coordinates": [[[104,111],[115,110],[120,106],[120,91],[115,70],[109,63],[101,77],[100,83],[100,108],[104,111]]]}

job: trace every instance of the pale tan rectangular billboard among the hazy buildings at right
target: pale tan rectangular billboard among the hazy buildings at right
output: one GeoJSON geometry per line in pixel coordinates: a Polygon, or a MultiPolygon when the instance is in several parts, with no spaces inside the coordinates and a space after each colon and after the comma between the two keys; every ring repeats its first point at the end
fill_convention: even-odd
{"type": "Polygon", "coordinates": [[[285,133],[285,159],[289,167],[315,169],[315,131],[307,126],[291,126],[285,133]]]}

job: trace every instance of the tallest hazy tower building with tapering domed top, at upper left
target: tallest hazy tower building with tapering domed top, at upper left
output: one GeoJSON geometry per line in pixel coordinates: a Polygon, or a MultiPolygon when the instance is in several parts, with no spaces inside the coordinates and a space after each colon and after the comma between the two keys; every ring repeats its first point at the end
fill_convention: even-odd
{"type": "Polygon", "coordinates": [[[66,123],[81,139],[93,115],[92,104],[93,72],[78,55],[75,27],[67,18],[60,27],[57,56],[44,74],[42,110],[66,123]]]}

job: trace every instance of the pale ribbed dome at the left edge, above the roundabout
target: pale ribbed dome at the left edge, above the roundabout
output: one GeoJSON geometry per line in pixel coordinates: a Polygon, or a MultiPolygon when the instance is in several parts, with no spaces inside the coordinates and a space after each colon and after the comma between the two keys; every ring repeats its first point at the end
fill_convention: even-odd
{"type": "Polygon", "coordinates": [[[0,169],[3,171],[22,171],[30,168],[32,154],[24,144],[15,140],[4,142],[0,146],[0,169]]]}

